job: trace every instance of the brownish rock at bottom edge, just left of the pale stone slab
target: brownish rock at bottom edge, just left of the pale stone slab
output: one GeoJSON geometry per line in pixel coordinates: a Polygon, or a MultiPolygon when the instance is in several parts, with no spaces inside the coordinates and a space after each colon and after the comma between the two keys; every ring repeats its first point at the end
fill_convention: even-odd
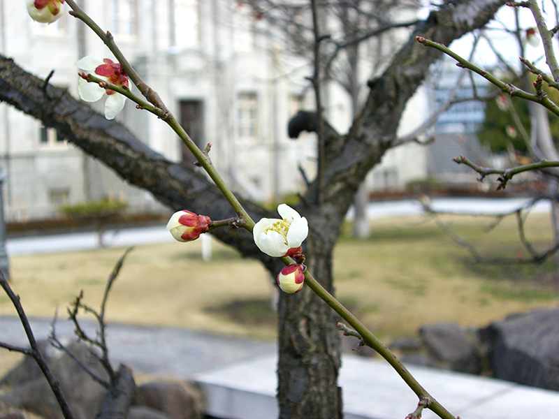
{"type": "Polygon", "coordinates": [[[138,386],[134,404],[161,411],[171,419],[202,417],[199,392],[184,383],[174,381],[152,381],[138,386]]]}

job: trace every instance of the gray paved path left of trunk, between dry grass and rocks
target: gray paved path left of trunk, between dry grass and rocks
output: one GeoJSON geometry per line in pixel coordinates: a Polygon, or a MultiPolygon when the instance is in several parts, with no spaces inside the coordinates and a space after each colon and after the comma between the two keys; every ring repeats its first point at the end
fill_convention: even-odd
{"type": "MultiPolygon", "coordinates": [[[[51,320],[31,318],[36,339],[50,334],[51,320]]],[[[94,336],[93,322],[83,323],[94,336]]],[[[70,321],[57,321],[57,337],[73,338],[70,321]]],[[[0,316],[0,340],[17,346],[29,346],[19,318],[0,316]]],[[[191,380],[200,372],[252,360],[275,353],[274,342],[214,335],[180,328],[158,328],[110,323],[107,340],[111,362],[122,362],[134,372],[154,376],[172,376],[191,380]]]]}

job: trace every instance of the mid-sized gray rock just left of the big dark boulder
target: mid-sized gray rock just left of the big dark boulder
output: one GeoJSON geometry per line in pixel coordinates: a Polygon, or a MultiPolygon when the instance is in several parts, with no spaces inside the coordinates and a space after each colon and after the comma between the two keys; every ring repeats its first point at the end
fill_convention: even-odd
{"type": "Polygon", "coordinates": [[[455,323],[434,323],[419,329],[421,341],[437,367],[468,374],[481,372],[481,357],[474,339],[455,323]]]}

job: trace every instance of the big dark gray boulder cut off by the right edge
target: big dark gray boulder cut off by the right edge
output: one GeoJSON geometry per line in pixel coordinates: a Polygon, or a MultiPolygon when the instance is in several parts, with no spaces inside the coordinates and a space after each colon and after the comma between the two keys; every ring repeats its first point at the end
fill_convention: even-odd
{"type": "Polygon", "coordinates": [[[495,378],[559,390],[559,309],[514,314],[479,334],[495,378]]]}

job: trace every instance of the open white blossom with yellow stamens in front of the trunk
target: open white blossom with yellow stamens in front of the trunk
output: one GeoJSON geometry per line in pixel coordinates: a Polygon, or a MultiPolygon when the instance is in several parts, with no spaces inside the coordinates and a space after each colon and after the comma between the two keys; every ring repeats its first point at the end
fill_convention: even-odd
{"type": "Polygon", "coordinates": [[[309,234],[309,225],[289,205],[281,204],[277,212],[282,219],[261,219],[252,230],[256,246],[269,256],[286,256],[290,249],[297,249],[309,234]]]}

